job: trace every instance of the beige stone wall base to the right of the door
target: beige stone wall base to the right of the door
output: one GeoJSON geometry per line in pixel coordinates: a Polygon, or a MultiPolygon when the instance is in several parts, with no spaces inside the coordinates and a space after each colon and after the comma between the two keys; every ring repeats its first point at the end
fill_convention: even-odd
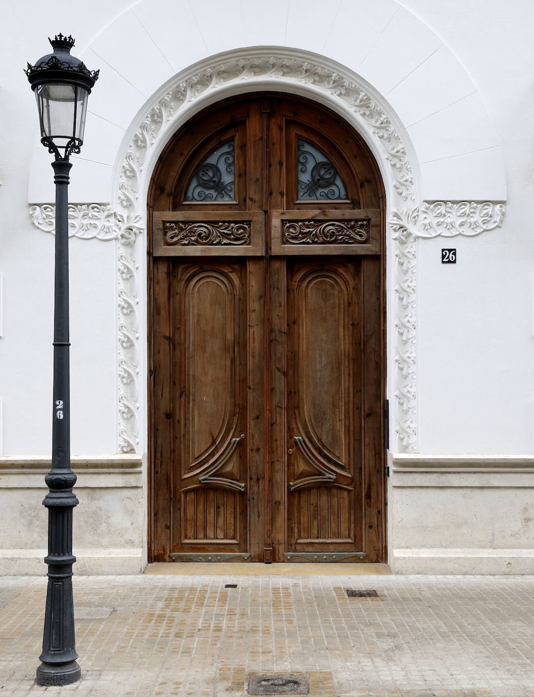
{"type": "Polygon", "coordinates": [[[394,574],[534,574],[532,455],[390,454],[394,574]]]}

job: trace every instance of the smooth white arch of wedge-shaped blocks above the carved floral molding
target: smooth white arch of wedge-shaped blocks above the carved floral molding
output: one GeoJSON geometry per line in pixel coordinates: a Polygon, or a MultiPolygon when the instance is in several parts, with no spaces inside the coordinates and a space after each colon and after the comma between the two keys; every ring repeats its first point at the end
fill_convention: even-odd
{"type": "MultiPolygon", "coordinates": [[[[163,84],[197,61],[247,46],[321,54],[387,100],[413,144],[422,199],[505,200],[501,148],[475,84],[443,40],[395,0],[138,2],[82,54],[101,72],[71,199],[109,200],[125,133],[163,84]]],[[[48,169],[38,146],[31,203],[47,201],[48,169]]]]}

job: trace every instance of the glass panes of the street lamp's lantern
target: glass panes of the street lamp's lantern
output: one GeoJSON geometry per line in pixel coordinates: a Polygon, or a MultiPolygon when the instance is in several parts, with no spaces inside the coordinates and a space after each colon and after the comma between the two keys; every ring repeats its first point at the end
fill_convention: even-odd
{"type": "Polygon", "coordinates": [[[66,148],[71,139],[84,139],[88,92],[79,85],[42,84],[36,89],[41,137],[54,141],[56,148],[66,148]]]}

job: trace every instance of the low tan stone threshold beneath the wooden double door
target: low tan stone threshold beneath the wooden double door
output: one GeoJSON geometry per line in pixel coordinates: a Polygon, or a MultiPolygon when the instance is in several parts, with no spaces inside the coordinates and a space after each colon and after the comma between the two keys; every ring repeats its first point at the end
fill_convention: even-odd
{"type": "Polygon", "coordinates": [[[155,562],[149,576],[390,576],[387,564],[280,562],[155,562]]]}

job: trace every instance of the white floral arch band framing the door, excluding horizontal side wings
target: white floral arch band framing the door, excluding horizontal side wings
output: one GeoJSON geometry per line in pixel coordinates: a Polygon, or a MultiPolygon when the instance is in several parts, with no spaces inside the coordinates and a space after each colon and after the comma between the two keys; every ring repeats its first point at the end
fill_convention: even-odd
{"type": "Polygon", "coordinates": [[[135,434],[132,426],[139,429],[140,404],[146,403],[144,398],[140,401],[142,386],[137,377],[141,357],[132,346],[134,337],[142,333],[135,309],[139,307],[138,277],[145,277],[141,272],[144,244],[135,241],[135,232],[145,229],[146,194],[155,164],[174,132],[201,109],[229,96],[268,90],[300,94],[330,107],[358,130],[379,164],[390,221],[386,237],[395,245],[390,244],[387,252],[388,314],[396,318],[388,333],[388,395],[397,401],[394,430],[399,447],[415,450],[417,231],[413,221],[418,217],[414,211],[420,200],[420,176],[413,148],[386,100],[363,79],[323,56],[271,48],[215,56],[171,79],[151,100],[144,118],[130,129],[116,160],[114,202],[125,221],[119,237],[119,446],[123,452],[139,446],[139,431],[135,434]],[[139,273],[134,273],[136,269],[139,273]]]}

